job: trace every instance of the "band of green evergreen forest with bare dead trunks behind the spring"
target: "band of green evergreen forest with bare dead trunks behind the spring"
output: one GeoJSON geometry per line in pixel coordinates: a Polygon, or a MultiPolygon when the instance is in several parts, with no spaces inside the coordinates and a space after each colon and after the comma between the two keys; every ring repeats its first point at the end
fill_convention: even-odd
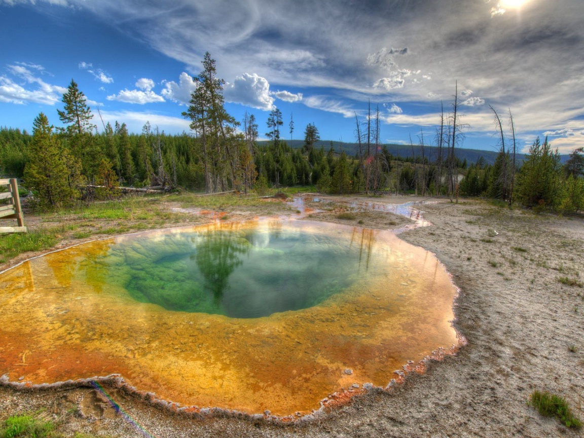
{"type": "Polygon", "coordinates": [[[98,131],[84,93],[72,80],[55,114],[64,128],[54,128],[44,113],[34,120],[32,134],[0,128],[0,175],[22,178],[33,194],[32,205],[40,209],[112,199],[120,196],[120,186],[263,194],[269,187],[312,185],[324,193],[486,196],[539,210],[584,210],[582,148],[564,164],[547,138],[537,138],[529,154],[519,154],[510,112],[507,130],[491,108],[500,147],[493,164],[480,155],[477,161],[461,159],[469,127],[457,113],[457,92],[450,112],[443,107],[434,138],[428,141],[420,132],[416,144],[411,140],[411,154],[400,157],[399,148],[394,155],[380,141],[378,107],[370,106],[362,120],[355,115],[356,141],[344,148],[339,142],[325,147],[314,124],[304,128],[302,147],[292,148],[283,138],[293,137],[294,122],[284,128],[277,107],[264,126],[253,114],[237,121],[227,113],[224,81],[210,54],[193,81],[197,87],[182,113],[191,131],[168,135],[150,123],[140,134],[129,133],[123,121],[98,131]],[[268,140],[258,142],[260,135],[268,140]]]}

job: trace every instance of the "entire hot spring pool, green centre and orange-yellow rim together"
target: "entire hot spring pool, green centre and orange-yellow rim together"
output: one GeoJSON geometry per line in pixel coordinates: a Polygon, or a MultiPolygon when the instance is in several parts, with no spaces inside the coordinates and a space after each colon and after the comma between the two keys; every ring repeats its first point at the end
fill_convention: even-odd
{"type": "Polygon", "coordinates": [[[272,219],[125,235],[0,274],[0,376],[119,374],[190,411],[298,417],[456,349],[456,293],[389,231],[272,219]]]}

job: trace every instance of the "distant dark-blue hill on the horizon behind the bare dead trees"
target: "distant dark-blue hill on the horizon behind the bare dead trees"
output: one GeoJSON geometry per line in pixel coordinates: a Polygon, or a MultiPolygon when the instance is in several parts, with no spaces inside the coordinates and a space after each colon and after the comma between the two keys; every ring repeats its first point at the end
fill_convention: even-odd
{"type": "MultiPolygon", "coordinates": [[[[284,140],[293,149],[300,149],[304,145],[304,140],[284,140]]],[[[267,145],[268,141],[258,141],[259,145],[267,145]]],[[[331,148],[331,141],[318,141],[315,145],[316,148],[324,147],[325,151],[331,148]]],[[[409,158],[416,154],[416,157],[422,157],[422,147],[419,145],[413,145],[413,151],[411,145],[406,144],[385,144],[390,154],[394,157],[409,158]]],[[[345,151],[346,154],[355,155],[359,150],[359,144],[357,143],[341,143],[340,141],[332,142],[333,150],[340,154],[341,150],[345,151]]],[[[426,146],[424,154],[429,157],[430,161],[434,161],[438,155],[438,148],[434,146],[426,146]]],[[[484,158],[488,164],[494,164],[497,158],[498,151],[483,151],[479,149],[467,149],[467,148],[456,148],[456,156],[461,161],[467,160],[468,164],[476,163],[480,157],[484,158]]],[[[525,158],[525,154],[516,154],[517,164],[521,164],[525,158]]],[[[565,162],[568,159],[568,155],[560,155],[561,162],[565,162]]]]}

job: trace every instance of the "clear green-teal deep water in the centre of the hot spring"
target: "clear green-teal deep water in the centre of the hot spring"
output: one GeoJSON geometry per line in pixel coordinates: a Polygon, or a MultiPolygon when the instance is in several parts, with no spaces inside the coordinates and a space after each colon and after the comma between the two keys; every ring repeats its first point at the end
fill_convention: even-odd
{"type": "Polygon", "coordinates": [[[100,277],[166,310],[257,318],[312,307],[357,278],[347,238],[263,227],[134,236],[92,263],[100,277]]]}

